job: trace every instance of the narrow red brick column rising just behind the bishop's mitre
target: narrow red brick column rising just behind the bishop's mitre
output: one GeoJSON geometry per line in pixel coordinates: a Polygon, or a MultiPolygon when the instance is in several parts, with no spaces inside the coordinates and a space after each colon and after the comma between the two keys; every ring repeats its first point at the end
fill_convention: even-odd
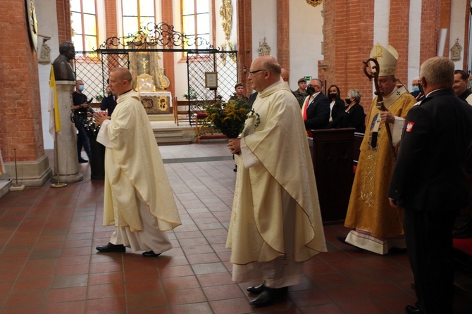
{"type": "Polygon", "coordinates": [[[398,52],[396,77],[405,86],[408,82],[408,31],[410,0],[390,1],[388,43],[398,52]]]}

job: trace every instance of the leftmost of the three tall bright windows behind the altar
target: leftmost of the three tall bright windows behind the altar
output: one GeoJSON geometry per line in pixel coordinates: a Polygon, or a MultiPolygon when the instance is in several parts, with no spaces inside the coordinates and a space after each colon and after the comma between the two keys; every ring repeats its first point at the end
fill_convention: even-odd
{"type": "Polygon", "coordinates": [[[97,49],[97,1],[71,0],[72,41],[75,51],[92,51],[97,49]]]}

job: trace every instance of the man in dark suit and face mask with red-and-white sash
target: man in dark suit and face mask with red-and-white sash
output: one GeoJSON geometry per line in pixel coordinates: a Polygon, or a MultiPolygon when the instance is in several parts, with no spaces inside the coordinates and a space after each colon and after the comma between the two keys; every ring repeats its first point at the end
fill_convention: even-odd
{"type": "Polygon", "coordinates": [[[306,88],[309,96],[303,103],[302,115],[309,136],[311,136],[310,130],[327,128],[330,120],[330,101],[321,92],[322,88],[323,82],[318,79],[311,80],[306,88]]]}

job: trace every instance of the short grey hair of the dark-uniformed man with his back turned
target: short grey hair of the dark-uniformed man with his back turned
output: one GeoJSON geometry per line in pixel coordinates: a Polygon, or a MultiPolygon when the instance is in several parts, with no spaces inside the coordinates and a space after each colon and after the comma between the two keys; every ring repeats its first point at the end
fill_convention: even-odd
{"type": "Polygon", "coordinates": [[[426,84],[451,88],[454,84],[454,62],[446,57],[429,58],[421,65],[420,76],[426,84]]]}

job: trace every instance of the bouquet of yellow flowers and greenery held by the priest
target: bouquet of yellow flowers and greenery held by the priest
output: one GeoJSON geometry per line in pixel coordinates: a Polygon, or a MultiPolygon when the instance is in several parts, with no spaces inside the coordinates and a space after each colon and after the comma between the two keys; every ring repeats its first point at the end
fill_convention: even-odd
{"type": "Polygon", "coordinates": [[[210,131],[201,134],[218,132],[234,139],[242,132],[247,118],[256,118],[256,127],[261,121],[259,115],[247,106],[247,100],[244,99],[200,103],[199,108],[206,112],[206,119],[201,127],[212,127],[210,131]]]}

